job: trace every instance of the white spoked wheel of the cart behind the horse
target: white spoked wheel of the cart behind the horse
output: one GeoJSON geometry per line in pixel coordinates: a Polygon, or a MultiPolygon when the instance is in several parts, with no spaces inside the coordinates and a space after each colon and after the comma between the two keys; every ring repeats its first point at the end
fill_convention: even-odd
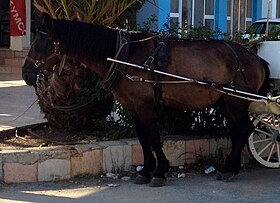
{"type": "Polygon", "coordinates": [[[253,157],[269,168],[280,168],[280,116],[259,114],[253,116],[255,131],[249,137],[253,157]]]}

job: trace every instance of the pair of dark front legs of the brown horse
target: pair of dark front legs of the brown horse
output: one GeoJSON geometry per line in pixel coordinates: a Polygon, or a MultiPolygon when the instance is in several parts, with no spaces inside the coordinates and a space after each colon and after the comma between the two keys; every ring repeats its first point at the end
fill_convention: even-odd
{"type": "Polygon", "coordinates": [[[148,173],[152,172],[150,186],[161,187],[165,185],[166,182],[165,173],[169,170],[169,161],[162,150],[155,110],[143,109],[145,109],[145,111],[142,110],[142,112],[138,114],[139,120],[138,123],[136,122],[136,130],[140,133],[138,134],[138,138],[143,149],[144,168],[139,172],[135,183],[142,183],[143,177],[141,176],[149,178],[150,176],[148,173]],[[145,112],[147,114],[143,114],[145,112]],[[145,135],[142,134],[143,132],[145,132],[145,135]],[[152,151],[155,152],[157,165],[152,151]]]}

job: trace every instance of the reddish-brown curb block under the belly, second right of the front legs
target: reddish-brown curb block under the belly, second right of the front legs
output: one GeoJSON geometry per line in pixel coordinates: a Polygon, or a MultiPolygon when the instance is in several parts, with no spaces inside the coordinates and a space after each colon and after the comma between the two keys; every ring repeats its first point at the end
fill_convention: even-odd
{"type": "Polygon", "coordinates": [[[195,162],[200,156],[208,156],[210,141],[208,139],[186,140],[185,162],[195,162]]]}

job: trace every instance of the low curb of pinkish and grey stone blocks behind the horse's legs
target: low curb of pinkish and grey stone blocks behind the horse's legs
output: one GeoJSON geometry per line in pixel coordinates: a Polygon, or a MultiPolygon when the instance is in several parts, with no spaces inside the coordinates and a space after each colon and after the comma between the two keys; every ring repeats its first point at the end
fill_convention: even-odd
{"type": "MultiPolygon", "coordinates": [[[[220,149],[225,155],[230,151],[227,139],[162,138],[163,150],[171,166],[215,155],[220,149]]],[[[248,154],[243,157],[249,158],[248,154]]],[[[244,158],[242,160],[244,162],[244,158]]],[[[45,148],[2,148],[0,181],[7,184],[57,181],[82,174],[130,171],[131,166],[140,164],[143,164],[143,155],[137,138],[45,148]]]]}

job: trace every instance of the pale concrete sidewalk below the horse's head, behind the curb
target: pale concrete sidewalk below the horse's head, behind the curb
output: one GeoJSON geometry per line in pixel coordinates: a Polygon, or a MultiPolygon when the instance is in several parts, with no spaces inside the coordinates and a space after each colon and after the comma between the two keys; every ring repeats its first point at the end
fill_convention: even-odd
{"type": "Polygon", "coordinates": [[[36,100],[19,74],[0,73],[0,131],[46,122],[36,100]]]}

